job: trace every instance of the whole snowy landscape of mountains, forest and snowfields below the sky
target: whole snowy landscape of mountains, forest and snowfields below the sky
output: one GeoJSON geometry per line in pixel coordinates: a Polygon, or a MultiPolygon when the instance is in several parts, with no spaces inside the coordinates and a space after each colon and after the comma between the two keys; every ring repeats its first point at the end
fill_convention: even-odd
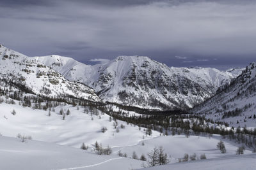
{"type": "Polygon", "coordinates": [[[90,66],[0,45],[0,169],[253,169],[255,80],[255,63],[90,66]]]}

